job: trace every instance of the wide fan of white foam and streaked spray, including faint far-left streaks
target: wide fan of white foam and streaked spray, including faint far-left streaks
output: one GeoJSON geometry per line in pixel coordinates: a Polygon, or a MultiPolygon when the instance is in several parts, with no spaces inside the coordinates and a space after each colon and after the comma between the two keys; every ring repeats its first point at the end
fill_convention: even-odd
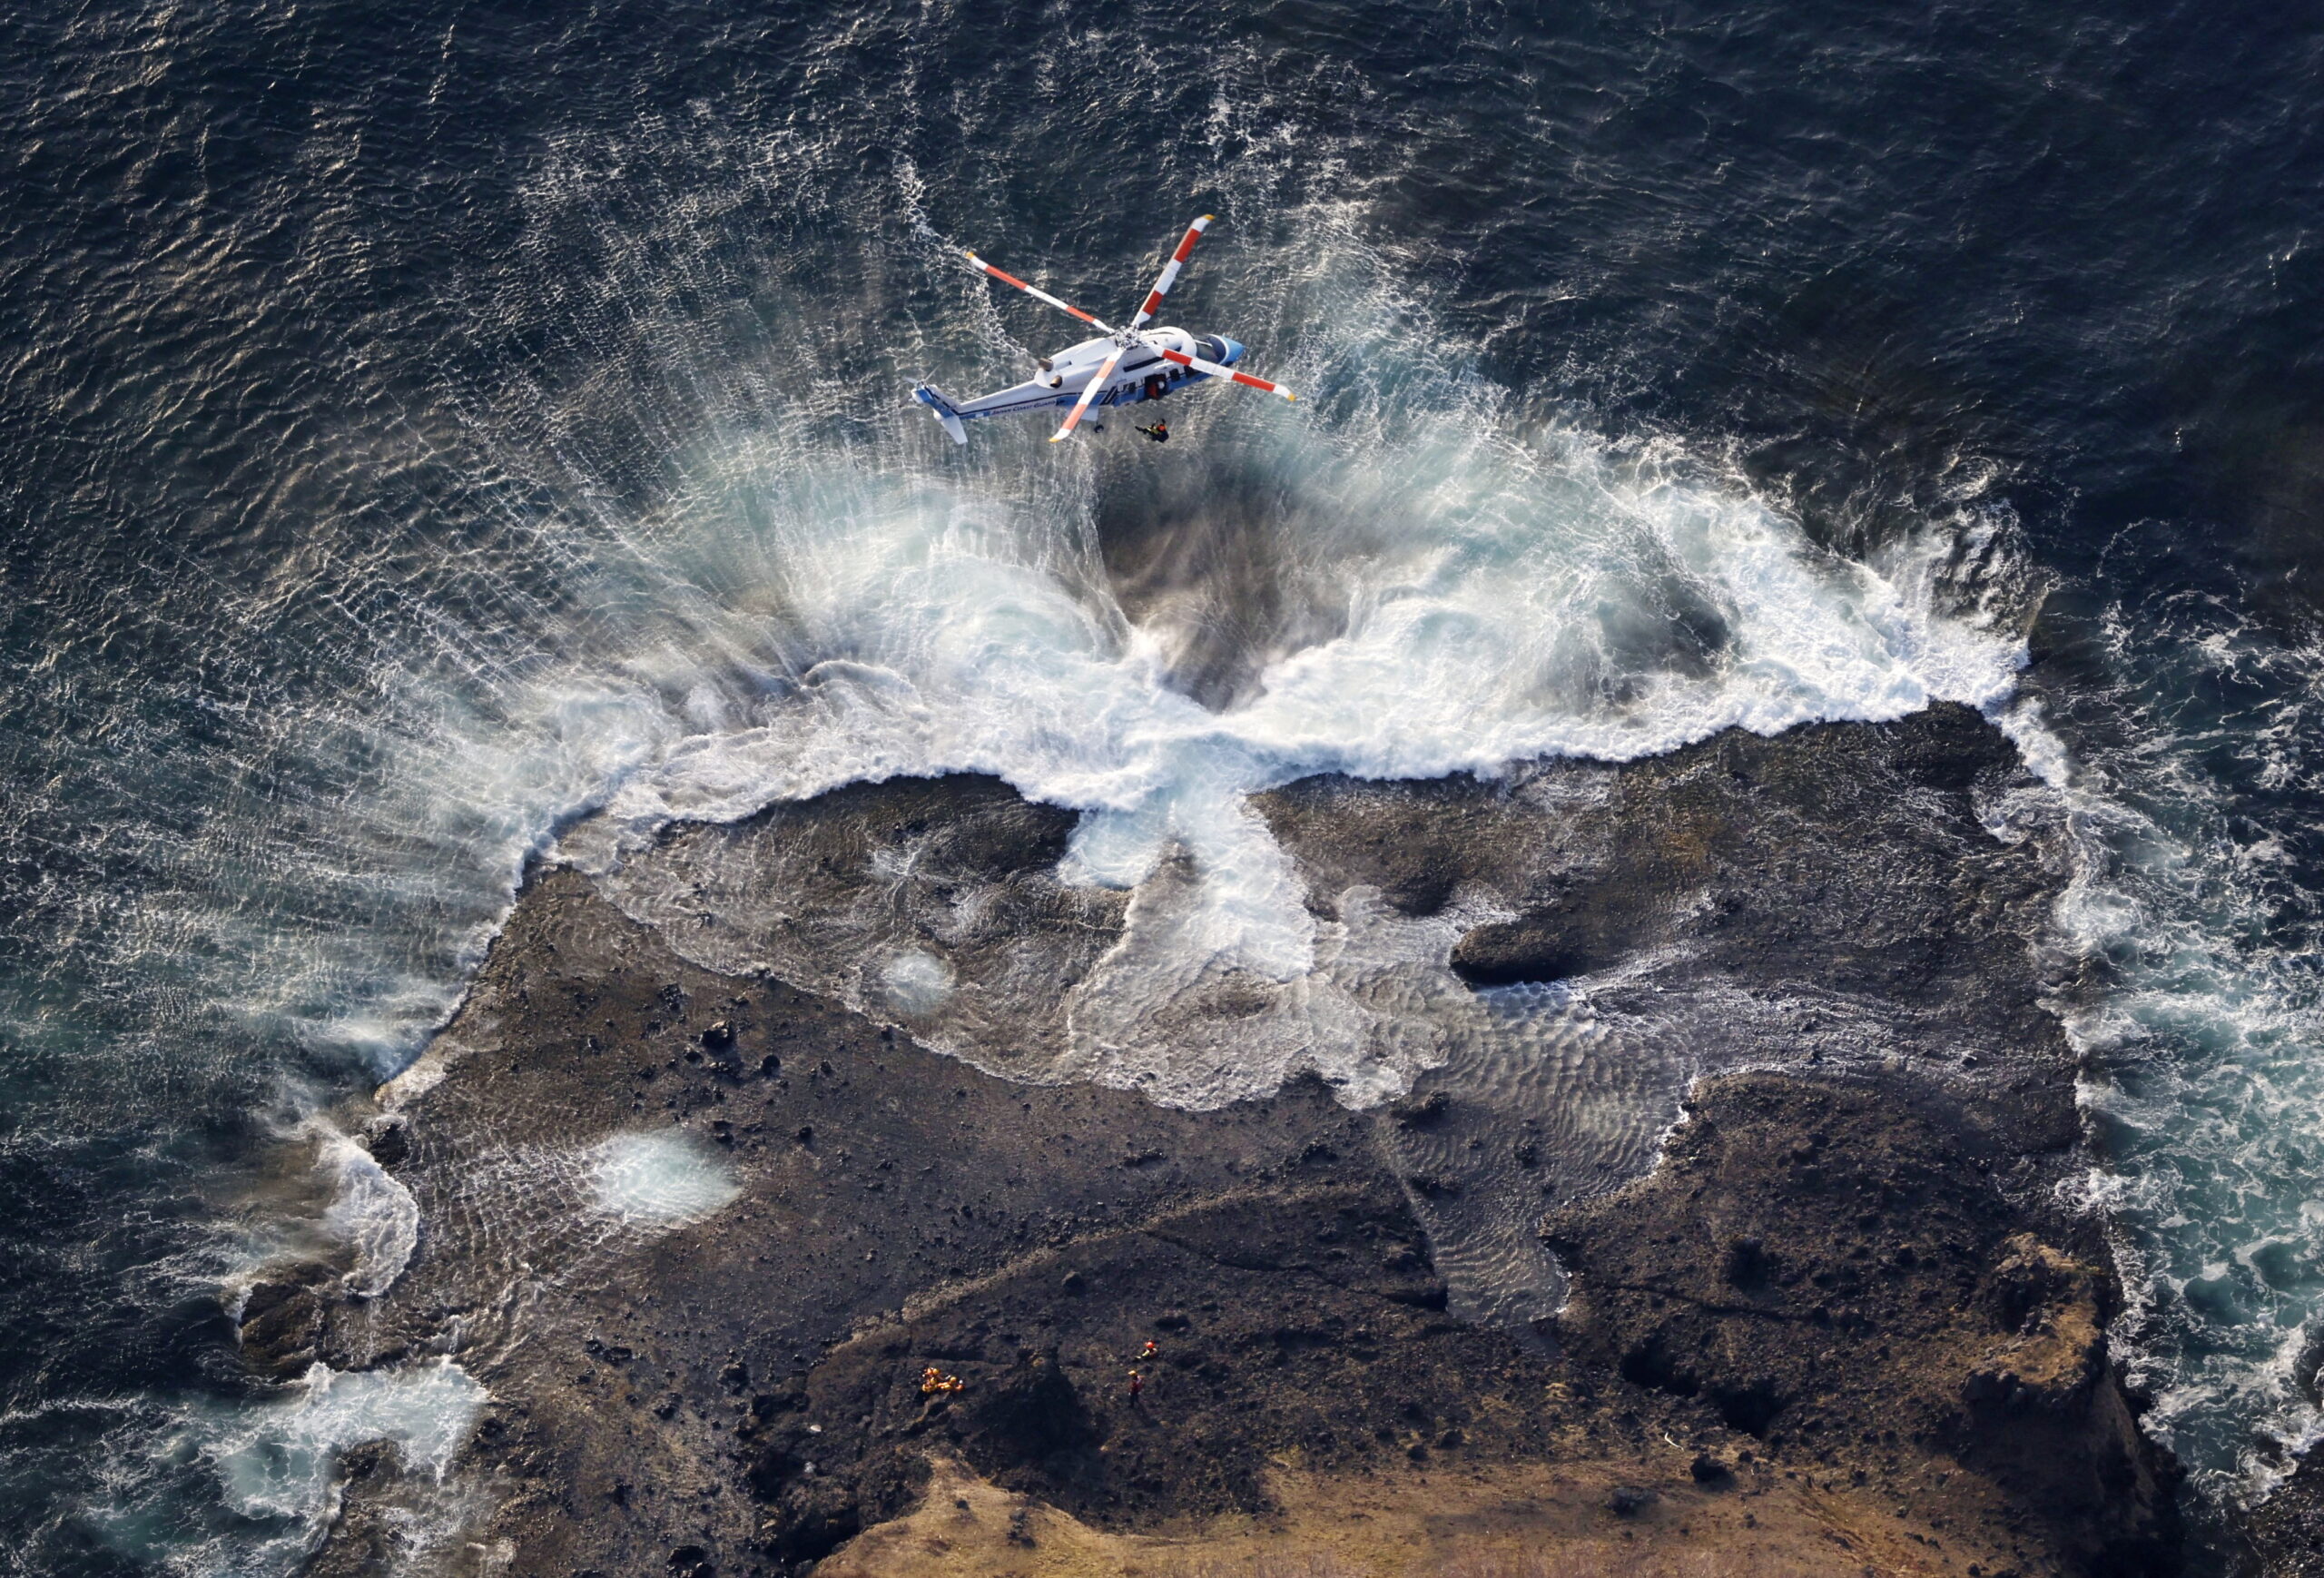
{"type": "MultiPolygon", "coordinates": [[[[1013,376],[1002,323],[1041,332],[1018,316],[1032,309],[1004,311],[913,239],[923,253],[883,267],[946,293],[902,339],[941,365],[892,365],[895,321],[820,279],[732,277],[732,237],[695,205],[665,205],[669,232],[609,218],[600,172],[623,158],[548,160],[516,249],[597,258],[618,321],[562,346],[569,367],[495,370],[493,388],[453,390],[458,421],[397,435],[416,453],[393,469],[456,479],[476,516],[453,548],[383,572],[367,535],[316,541],[223,614],[293,623],[304,646],[279,646],[284,662],[330,676],[288,686],[295,704],[251,746],[267,767],[221,788],[167,855],[188,883],[225,874],[263,902],[156,892],[123,932],[156,976],[205,960],[205,1002],[267,1039],[393,1074],[456,1006],[525,860],[588,813],[562,851],[607,869],[672,818],[997,774],[1083,811],[1076,881],[1136,888],[1171,853],[1192,860],[1199,890],[1167,944],[1181,957],[1116,960],[1109,1023],[1129,1025],[1139,978],[1167,992],[1202,967],[1274,985],[1313,969],[1315,923],[1243,806],[1253,790],[1636,758],[1729,725],[2010,695],[2015,632],[1948,611],[1941,590],[1957,539],[1985,530],[1973,502],[1850,562],[1715,453],[1520,416],[1357,239],[1355,211],[1315,205],[1276,230],[1274,195],[1253,188],[1183,295],[1301,404],[1195,393],[1167,451],[1106,451],[1118,432],[1048,446],[999,423],[955,451],[874,374],[951,376],[981,351],[971,376],[1013,376]],[[702,295],[674,295],[674,274],[702,295]],[[727,321],[700,314],[718,293],[748,297],[760,330],[723,339],[727,321]],[[1202,302],[1232,302],[1232,323],[1202,302]],[[813,337],[786,332],[809,321],[813,337]],[[832,365],[865,376],[839,388],[832,365]],[[1178,662],[1227,639],[1234,600],[1188,567],[1185,597],[1125,602],[1106,541],[1132,504],[1248,516],[1229,525],[1299,604],[1234,637],[1250,683],[1222,709],[1188,695],[1178,662]],[[244,788],[265,783],[302,788],[244,788]],[[258,874],[251,848],[270,851],[258,874]]],[[[792,202],[760,160],[711,165],[792,202]]],[[[1174,1078],[1136,1034],[1090,1067],[1174,1078]]]]}

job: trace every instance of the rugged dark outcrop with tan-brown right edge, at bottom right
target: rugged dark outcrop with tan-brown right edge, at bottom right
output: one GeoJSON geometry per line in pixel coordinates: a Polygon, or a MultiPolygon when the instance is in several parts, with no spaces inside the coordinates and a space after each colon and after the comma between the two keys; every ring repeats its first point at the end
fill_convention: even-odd
{"type": "Polygon", "coordinates": [[[1894,1081],[1701,1088],[1662,1167],[1552,1213],[1559,1329],[1627,1380],[1910,1504],[1989,1487],[1964,1532],[2013,1559],[2173,1571],[2173,1483],[2106,1364],[2092,1225],[2010,1199],[1992,1113],[1894,1081]],[[2024,1508],[2043,1508],[2029,1545],[2024,1508]]]}

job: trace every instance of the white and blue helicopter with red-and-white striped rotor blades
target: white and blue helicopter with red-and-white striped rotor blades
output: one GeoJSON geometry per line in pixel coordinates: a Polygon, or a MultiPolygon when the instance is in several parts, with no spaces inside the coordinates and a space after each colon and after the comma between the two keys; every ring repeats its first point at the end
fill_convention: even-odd
{"type": "Polygon", "coordinates": [[[1202,239],[1202,232],[1211,228],[1213,218],[1215,214],[1204,214],[1185,228],[1185,239],[1178,242],[1178,251],[1174,251],[1169,263],[1162,265],[1162,277],[1155,279],[1155,288],[1146,293],[1146,304],[1141,304],[1136,316],[1129,318],[1129,328],[1102,323],[1081,307],[1060,302],[1048,291],[1027,286],[1016,274],[1004,274],[992,267],[974,251],[960,249],[960,256],[964,256],[981,274],[990,274],[1004,286],[1016,286],[1025,295],[1048,302],[1057,311],[1074,314],[1095,328],[1099,337],[1083,339],[1081,344],[1067,346],[1055,356],[1039,358],[1034,363],[1037,370],[1032,379],[1011,388],[997,388],[990,395],[978,395],[976,400],[962,400],[955,404],[953,400],[946,400],[944,390],[934,383],[916,386],[911,397],[937,414],[937,421],[944,423],[944,430],[953,435],[955,444],[969,442],[964,423],[981,416],[1018,416],[1020,411],[1071,407],[1071,411],[1064,414],[1064,425],[1048,435],[1048,442],[1057,444],[1060,439],[1074,437],[1074,430],[1081,428],[1081,418],[1090,411],[1090,407],[1162,400],[1181,388],[1208,383],[1213,379],[1260,388],[1269,395],[1281,395],[1283,400],[1297,400],[1297,395],[1281,383],[1269,383],[1267,379],[1255,379],[1248,372],[1236,372],[1234,363],[1243,360],[1243,346],[1225,335],[1190,335],[1183,328],[1146,328],[1153,323],[1155,311],[1162,309],[1162,297],[1169,295],[1174,284],[1178,284],[1178,270],[1185,267],[1188,253],[1195,251],[1195,242],[1202,239]]]}

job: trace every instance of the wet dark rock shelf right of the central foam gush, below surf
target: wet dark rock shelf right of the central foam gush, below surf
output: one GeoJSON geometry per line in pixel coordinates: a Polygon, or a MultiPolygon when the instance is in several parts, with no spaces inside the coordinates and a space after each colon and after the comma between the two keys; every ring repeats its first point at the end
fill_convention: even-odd
{"type": "Polygon", "coordinates": [[[1889,999],[1892,1050],[2064,1060],[2027,946],[2054,876],[1999,844],[1973,804],[1971,790],[2008,781],[2024,781],[2010,744],[1938,704],[1875,730],[1729,732],[1624,767],[1306,779],[1255,804],[1318,895],[1373,885],[1394,899],[1427,869],[1518,909],[1457,944],[1452,969],[1471,985],[1676,951],[1683,974],[1755,992],[1889,999]]]}

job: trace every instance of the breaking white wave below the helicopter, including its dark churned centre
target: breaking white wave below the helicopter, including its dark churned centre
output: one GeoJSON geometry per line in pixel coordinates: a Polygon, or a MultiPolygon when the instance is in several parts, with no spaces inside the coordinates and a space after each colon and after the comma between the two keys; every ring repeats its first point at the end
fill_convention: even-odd
{"type": "MultiPolygon", "coordinates": [[[[1160,456],[1099,435],[1060,460],[997,425],[962,456],[902,409],[876,439],[792,411],[686,446],[651,521],[574,555],[637,623],[597,623],[588,669],[530,688],[539,718],[616,725],[572,755],[623,762],[560,853],[611,872],[672,820],[992,774],[1083,813],[1069,881],[1146,895],[1053,1074],[1211,1106],[1313,1067],[1376,1102],[1415,1067],[1346,1027],[1248,795],[2008,706],[2020,632],[1950,579],[1964,553],[2006,562],[2006,511],[1964,500],[1875,562],[1829,553],[1676,439],[1522,418],[1346,223],[1308,218],[1297,258],[1208,260],[1299,407],[1204,390],[1160,456]],[[681,676],[676,653],[732,660],[681,676]],[[1169,860],[1192,888],[1148,892],[1169,860]],[[1220,976],[1313,990],[1222,1053],[1171,1016],[1220,976]]],[[[985,286],[955,277],[974,342],[985,286]]]]}

